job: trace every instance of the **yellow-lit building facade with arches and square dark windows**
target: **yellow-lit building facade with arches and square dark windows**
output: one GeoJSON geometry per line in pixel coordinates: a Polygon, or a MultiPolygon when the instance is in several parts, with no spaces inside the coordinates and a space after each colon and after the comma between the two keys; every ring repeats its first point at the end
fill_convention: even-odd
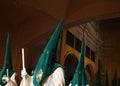
{"type": "Polygon", "coordinates": [[[85,73],[91,82],[94,82],[95,73],[97,70],[96,63],[97,55],[97,32],[92,23],[74,26],[61,31],[61,36],[58,45],[57,60],[64,67],[66,80],[71,80],[78,61],[80,59],[81,43],[85,39],[85,73]]]}

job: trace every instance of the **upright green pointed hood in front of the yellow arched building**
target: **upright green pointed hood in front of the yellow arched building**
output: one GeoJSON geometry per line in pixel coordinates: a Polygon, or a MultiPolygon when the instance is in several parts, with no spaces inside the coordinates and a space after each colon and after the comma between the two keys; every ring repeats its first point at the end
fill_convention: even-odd
{"type": "Polygon", "coordinates": [[[85,71],[84,71],[84,51],[85,51],[85,43],[84,39],[82,40],[82,47],[80,53],[80,60],[78,62],[75,74],[71,81],[71,86],[85,86],[85,71]]]}

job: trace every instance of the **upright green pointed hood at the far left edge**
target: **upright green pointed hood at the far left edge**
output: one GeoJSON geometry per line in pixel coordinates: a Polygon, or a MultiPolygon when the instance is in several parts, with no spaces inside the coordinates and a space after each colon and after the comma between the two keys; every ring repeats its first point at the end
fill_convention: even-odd
{"type": "Polygon", "coordinates": [[[5,84],[2,83],[3,75],[6,75],[6,69],[9,70],[9,77],[12,76],[14,73],[14,69],[12,66],[12,56],[11,56],[11,47],[10,47],[10,34],[8,33],[7,41],[6,41],[6,52],[4,58],[4,65],[2,70],[0,71],[0,84],[4,86],[5,84]]]}

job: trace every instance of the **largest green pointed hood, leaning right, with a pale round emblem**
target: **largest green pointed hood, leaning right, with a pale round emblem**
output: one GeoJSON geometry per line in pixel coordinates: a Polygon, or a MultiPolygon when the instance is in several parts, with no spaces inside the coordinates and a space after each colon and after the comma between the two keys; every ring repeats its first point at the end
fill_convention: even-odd
{"type": "Polygon", "coordinates": [[[62,28],[62,20],[60,20],[55,32],[50,38],[47,46],[45,47],[43,53],[41,54],[38,64],[35,68],[33,75],[33,83],[35,86],[41,86],[42,81],[49,76],[59,64],[55,64],[54,59],[56,57],[57,44],[59,40],[60,30],[62,28]],[[40,81],[37,81],[37,74],[42,72],[42,78],[40,81]]]}

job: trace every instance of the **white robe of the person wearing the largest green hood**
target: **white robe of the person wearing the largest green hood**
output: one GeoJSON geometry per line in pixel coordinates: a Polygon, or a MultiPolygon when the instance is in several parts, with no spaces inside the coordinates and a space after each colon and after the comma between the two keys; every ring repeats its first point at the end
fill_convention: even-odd
{"type": "MultiPolygon", "coordinates": [[[[24,80],[22,79],[20,86],[34,86],[33,76],[26,75],[24,80]]],[[[64,71],[61,67],[57,68],[50,76],[48,76],[42,83],[42,86],[65,86],[64,71]]]]}

